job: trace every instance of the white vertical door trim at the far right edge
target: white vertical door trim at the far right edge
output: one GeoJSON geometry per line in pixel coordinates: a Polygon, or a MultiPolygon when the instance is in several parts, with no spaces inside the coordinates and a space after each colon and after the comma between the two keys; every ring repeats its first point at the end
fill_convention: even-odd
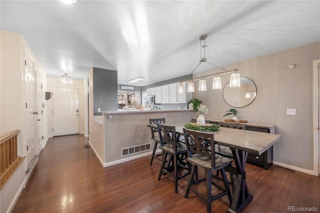
{"type": "Polygon", "coordinates": [[[319,176],[319,60],[313,61],[313,175],[319,176]]]}

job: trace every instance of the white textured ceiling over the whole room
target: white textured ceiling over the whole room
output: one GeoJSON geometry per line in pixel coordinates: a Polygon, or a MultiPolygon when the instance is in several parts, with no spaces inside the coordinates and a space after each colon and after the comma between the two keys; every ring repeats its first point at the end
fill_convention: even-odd
{"type": "Polygon", "coordinates": [[[117,70],[118,84],[135,86],[187,75],[201,34],[207,61],[221,67],[320,41],[317,0],[1,0],[0,9],[1,29],[21,34],[55,78],[81,80],[91,67],[117,70]],[[145,79],[127,83],[138,76],[145,79]]]}

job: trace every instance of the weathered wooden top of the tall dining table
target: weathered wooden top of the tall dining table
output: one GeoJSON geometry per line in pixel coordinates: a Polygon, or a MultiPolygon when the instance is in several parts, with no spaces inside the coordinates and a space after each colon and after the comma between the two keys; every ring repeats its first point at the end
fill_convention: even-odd
{"type": "MultiPolygon", "coordinates": [[[[165,123],[165,125],[175,126],[175,131],[183,134],[182,128],[185,123],[165,123]]],[[[156,124],[148,125],[156,127],[156,124]]],[[[261,155],[273,144],[279,141],[281,135],[249,130],[232,129],[220,127],[214,133],[214,141],[230,148],[244,150],[250,153],[261,155]]]]}

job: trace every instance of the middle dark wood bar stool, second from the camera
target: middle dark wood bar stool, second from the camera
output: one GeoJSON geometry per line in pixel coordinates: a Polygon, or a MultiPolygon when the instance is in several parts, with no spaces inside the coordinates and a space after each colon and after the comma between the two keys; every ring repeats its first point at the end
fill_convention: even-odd
{"type": "Polygon", "coordinates": [[[162,173],[170,175],[174,179],[174,193],[178,193],[178,180],[189,175],[191,169],[190,164],[186,161],[186,147],[184,143],[179,141],[179,135],[176,134],[174,126],[157,123],[157,127],[160,139],[160,149],[162,150],[162,163],[158,181],[161,179],[162,173]],[[166,160],[167,158],[168,160],[166,160]],[[167,165],[165,165],[166,162],[168,162],[167,165]],[[186,172],[179,175],[179,168],[186,172]]]}

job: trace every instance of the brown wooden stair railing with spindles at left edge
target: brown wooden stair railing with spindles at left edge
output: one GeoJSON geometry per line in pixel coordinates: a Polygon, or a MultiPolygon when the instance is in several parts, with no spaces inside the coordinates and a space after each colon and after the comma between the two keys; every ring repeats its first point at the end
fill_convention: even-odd
{"type": "Polygon", "coordinates": [[[0,190],[23,162],[25,157],[17,156],[17,135],[20,130],[14,130],[0,140],[0,190]]]}

